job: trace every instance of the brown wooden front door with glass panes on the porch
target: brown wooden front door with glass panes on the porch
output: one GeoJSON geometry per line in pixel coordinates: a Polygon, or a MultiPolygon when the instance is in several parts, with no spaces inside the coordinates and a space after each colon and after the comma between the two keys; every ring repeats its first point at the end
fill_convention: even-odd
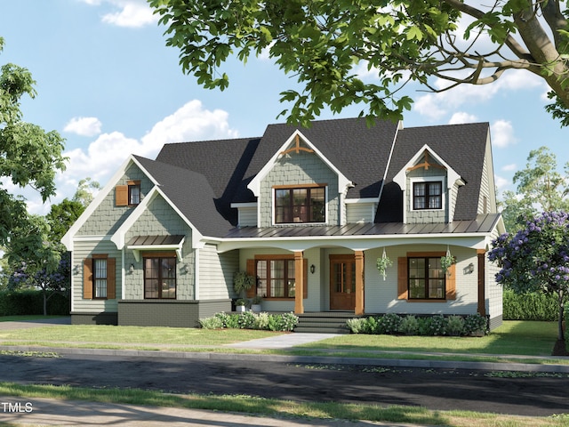
{"type": "Polygon", "coordinates": [[[330,310],[356,307],[356,258],[330,255],[330,310]]]}

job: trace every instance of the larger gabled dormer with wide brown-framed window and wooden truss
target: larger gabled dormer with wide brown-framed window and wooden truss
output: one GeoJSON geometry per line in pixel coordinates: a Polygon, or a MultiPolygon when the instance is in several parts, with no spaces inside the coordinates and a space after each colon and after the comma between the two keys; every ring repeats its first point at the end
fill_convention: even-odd
{"type": "MultiPolygon", "coordinates": [[[[248,189],[257,197],[257,226],[340,225],[353,183],[301,131],[294,131],[248,189]]],[[[243,207],[246,206],[236,206],[243,207]]]]}

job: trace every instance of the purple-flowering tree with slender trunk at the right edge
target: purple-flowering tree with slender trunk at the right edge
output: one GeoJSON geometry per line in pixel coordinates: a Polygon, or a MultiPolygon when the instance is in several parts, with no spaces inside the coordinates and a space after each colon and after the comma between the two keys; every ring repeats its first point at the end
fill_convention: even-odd
{"type": "Polygon", "coordinates": [[[501,270],[496,281],[524,294],[555,294],[558,306],[554,355],[567,355],[563,321],[569,292],[569,214],[546,212],[525,223],[524,230],[493,240],[488,253],[501,270]]]}

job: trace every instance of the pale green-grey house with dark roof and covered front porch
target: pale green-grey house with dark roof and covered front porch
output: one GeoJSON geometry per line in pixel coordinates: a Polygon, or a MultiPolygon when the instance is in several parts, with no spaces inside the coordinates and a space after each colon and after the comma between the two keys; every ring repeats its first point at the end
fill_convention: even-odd
{"type": "Polygon", "coordinates": [[[231,310],[247,270],[263,310],[480,313],[495,327],[485,254],[503,231],[487,123],[354,118],[131,156],[62,242],[74,324],[196,326],[231,310]]]}

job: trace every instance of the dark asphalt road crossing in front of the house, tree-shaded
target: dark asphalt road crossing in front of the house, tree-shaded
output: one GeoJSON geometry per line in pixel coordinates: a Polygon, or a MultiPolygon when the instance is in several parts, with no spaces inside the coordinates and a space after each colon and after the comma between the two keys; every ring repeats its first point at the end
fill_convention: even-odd
{"type": "Polygon", "coordinates": [[[188,359],[0,356],[0,381],[245,394],[297,401],[373,402],[434,410],[569,413],[568,377],[504,378],[460,369],[341,367],[188,359]]]}

